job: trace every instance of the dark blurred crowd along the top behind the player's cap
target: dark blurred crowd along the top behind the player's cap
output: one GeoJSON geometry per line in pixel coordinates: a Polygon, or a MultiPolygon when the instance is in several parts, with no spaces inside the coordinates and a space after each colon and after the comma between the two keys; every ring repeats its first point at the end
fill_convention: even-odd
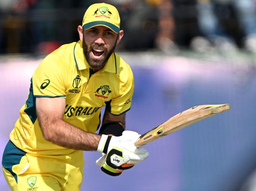
{"type": "MultiPolygon", "coordinates": [[[[0,53],[50,53],[78,40],[98,0],[0,0],[0,53]]],[[[119,9],[120,50],[256,53],[256,0],[106,0],[119,9]]]]}

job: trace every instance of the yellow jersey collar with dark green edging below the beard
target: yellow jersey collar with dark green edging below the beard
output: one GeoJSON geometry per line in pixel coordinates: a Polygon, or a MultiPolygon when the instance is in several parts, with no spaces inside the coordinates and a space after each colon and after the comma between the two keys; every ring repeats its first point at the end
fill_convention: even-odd
{"type": "MultiPolygon", "coordinates": [[[[89,69],[90,65],[88,64],[85,56],[83,54],[82,41],[79,40],[74,45],[74,61],[76,62],[76,67],[78,70],[89,69]]],[[[108,62],[105,66],[100,70],[101,72],[107,71],[111,73],[117,73],[117,60],[115,53],[109,57],[108,62]]]]}

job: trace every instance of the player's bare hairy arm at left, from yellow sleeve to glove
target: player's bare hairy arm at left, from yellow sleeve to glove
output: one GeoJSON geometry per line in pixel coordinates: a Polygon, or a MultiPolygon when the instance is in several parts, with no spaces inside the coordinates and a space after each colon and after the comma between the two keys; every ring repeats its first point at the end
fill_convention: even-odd
{"type": "Polygon", "coordinates": [[[101,136],[63,121],[65,105],[65,98],[36,98],[37,118],[45,140],[71,149],[97,150],[101,136]]]}

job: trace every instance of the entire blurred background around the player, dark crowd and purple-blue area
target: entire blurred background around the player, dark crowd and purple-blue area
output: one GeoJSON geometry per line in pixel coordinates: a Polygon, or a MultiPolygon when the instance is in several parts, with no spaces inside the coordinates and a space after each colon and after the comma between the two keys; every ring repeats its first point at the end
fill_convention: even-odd
{"type": "MultiPolygon", "coordinates": [[[[0,155],[33,71],[79,40],[77,26],[96,2],[0,0],[0,155]]],[[[116,51],[135,78],[126,129],[143,134],[196,105],[231,109],[146,145],[149,158],[119,177],[100,171],[99,153],[84,152],[81,190],[255,191],[256,0],[105,2],[119,10],[116,51]]],[[[0,186],[9,190],[2,173],[0,186]]]]}

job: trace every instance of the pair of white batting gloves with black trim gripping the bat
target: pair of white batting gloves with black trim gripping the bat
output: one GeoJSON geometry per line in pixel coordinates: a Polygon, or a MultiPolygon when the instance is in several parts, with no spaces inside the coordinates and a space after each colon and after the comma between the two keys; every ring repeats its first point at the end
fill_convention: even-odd
{"type": "Polygon", "coordinates": [[[102,135],[98,151],[106,156],[100,157],[96,164],[102,171],[111,176],[118,176],[124,169],[129,169],[134,164],[145,160],[148,151],[142,147],[135,147],[134,142],[139,138],[134,131],[124,131],[122,136],[102,135]]]}

